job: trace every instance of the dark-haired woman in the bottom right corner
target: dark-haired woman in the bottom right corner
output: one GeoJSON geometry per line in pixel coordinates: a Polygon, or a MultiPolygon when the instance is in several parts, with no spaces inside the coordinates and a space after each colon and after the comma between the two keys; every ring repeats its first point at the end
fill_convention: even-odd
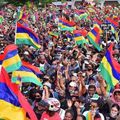
{"type": "Polygon", "coordinates": [[[106,120],[119,120],[120,116],[120,107],[118,104],[113,104],[110,113],[108,115],[105,115],[106,120]]]}

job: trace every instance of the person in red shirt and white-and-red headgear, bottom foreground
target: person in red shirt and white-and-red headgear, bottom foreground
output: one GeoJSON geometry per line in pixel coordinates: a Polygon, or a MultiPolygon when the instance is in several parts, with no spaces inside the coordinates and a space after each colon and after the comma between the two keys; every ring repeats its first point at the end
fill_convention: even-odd
{"type": "Polygon", "coordinates": [[[42,113],[40,120],[61,120],[58,110],[60,102],[56,98],[44,99],[49,104],[48,109],[42,113]]]}

